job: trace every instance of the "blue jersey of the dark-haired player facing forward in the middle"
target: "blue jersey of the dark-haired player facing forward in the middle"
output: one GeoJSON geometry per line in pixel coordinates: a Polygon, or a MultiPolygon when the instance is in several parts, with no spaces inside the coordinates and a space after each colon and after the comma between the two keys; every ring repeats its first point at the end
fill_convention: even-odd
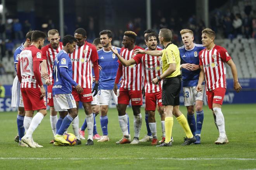
{"type": "MultiPolygon", "coordinates": [[[[114,47],[120,53],[121,48],[114,47]]],[[[104,51],[104,48],[98,51],[99,60],[98,63],[102,67],[100,71],[99,89],[101,90],[112,90],[114,87],[116,73],[118,70],[118,57],[112,51],[104,51]]],[[[120,85],[118,85],[118,88],[120,85]]]]}

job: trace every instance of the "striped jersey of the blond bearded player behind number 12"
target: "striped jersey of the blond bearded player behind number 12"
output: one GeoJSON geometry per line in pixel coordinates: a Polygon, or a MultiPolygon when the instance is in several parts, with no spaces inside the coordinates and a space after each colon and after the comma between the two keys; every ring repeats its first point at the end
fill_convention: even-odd
{"type": "Polygon", "coordinates": [[[41,51],[42,51],[42,58],[46,59],[46,63],[47,63],[47,72],[50,75],[50,80],[52,80],[52,84],[54,83],[54,79],[53,79],[53,64],[54,64],[54,60],[55,60],[55,56],[57,56],[57,54],[59,53],[59,51],[61,51],[63,48],[63,44],[62,42],[59,42],[59,47],[57,49],[52,48],[51,44],[48,44],[47,46],[44,46],[41,51]]]}

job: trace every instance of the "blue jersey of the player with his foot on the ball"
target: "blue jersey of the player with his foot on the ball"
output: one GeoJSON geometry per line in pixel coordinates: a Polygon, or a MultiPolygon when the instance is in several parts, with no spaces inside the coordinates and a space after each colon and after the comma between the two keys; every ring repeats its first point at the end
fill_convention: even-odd
{"type": "Polygon", "coordinates": [[[68,82],[64,77],[61,76],[60,67],[67,68],[67,74],[72,78],[72,62],[66,51],[61,50],[54,60],[53,66],[53,77],[54,86],[52,87],[52,95],[55,94],[70,94],[72,92],[71,82],[68,82]]]}

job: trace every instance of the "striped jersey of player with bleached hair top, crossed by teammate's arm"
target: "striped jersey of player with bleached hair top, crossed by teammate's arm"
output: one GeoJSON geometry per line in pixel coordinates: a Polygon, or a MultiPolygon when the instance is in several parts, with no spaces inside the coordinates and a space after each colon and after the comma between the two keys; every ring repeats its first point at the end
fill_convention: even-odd
{"type": "MultiPolygon", "coordinates": [[[[128,48],[121,48],[120,54],[121,56],[129,60],[133,58],[135,55],[133,51],[135,49],[143,49],[139,46],[135,46],[131,51],[128,48]]],[[[120,62],[118,60],[118,62],[120,62]]],[[[142,66],[141,64],[131,65],[128,67],[123,66],[123,76],[122,76],[122,88],[126,88],[128,90],[142,90],[142,66]]]]}

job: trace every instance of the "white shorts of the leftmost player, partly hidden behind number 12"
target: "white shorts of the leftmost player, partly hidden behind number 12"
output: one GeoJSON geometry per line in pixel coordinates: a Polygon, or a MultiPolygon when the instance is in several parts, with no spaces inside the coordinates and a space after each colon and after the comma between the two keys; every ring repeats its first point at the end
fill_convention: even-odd
{"type": "Polygon", "coordinates": [[[12,107],[24,107],[23,99],[21,95],[21,83],[19,82],[18,76],[13,80],[12,84],[12,107]]]}

